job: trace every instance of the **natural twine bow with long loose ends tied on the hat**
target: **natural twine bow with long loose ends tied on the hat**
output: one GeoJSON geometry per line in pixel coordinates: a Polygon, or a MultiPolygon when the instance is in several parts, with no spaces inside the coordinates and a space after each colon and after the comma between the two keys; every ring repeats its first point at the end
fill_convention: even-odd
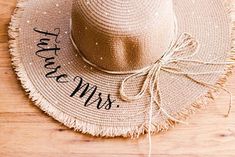
{"type": "MultiPolygon", "coordinates": [[[[223,74],[225,71],[205,71],[205,72],[187,72],[183,71],[182,68],[177,66],[170,66],[172,63],[175,64],[185,64],[186,67],[188,65],[227,65],[227,64],[233,64],[232,62],[218,62],[217,60],[219,58],[213,59],[209,62],[206,61],[200,61],[200,60],[194,60],[192,59],[193,56],[197,54],[197,49],[199,47],[199,43],[196,41],[195,38],[193,38],[191,35],[187,33],[183,33],[174,43],[171,43],[170,48],[164,53],[161,59],[159,59],[157,62],[155,62],[153,65],[144,68],[134,74],[131,74],[130,76],[126,77],[121,84],[120,87],[120,95],[121,98],[125,101],[132,102],[135,100],[139,100],[143,98],[143,96],[146,94],[147,91],[150,93],[150,108],[149,108],[149,121],[148,121],[148,134],[149,134],[149,142],[150,142],[150,148],[149,148],[149,156],[151,155],[151,126],[152,126],[152,114],[153,114],[153,104],[156,104],[159,112],[163,113],[167,118],[169,118],[172,121],[187,124],[184,121],[181,121],[179,119],[176,119],[172,115],[170,115],[163,107],[162,107],[162,96],[160,92],[160,86],[159,86],[159,78],[162,71],[168,72],[175,75],[182,75],[186,78],[192,80],[193,82],[202,85],[206,88],[215,90],[218,87],[216,85],[212,85],[209,83],[205,83],[202,81],[198,81],[194,79],[192,76],[198,76],[198,75],[209,75],[209,74],[223,74]],[[144,76],[145,81],[143,83],[143,86],[138,94],[136,95],[127,95],[125,93],[125,88],[127,87],[127,82],[130,80],[133,80],[135,78],[144,76]]],[[[232,104],[232,95],[231,93],[221,87],[224,91],[230,94],[230,103],[229,103],[229,110],[226,116],[229,115],[231,110],[231,104],[232,104]]],[[[145,112],[145,111],[144,111],[145,112]]]]}

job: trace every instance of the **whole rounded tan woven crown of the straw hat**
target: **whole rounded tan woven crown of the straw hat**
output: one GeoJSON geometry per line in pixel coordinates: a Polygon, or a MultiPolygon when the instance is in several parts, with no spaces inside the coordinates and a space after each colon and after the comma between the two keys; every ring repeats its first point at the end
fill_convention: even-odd
{"type": "Polygon", "coordinates": [[[72,35],[99,67],[143,68],[161,57],[174,36],[172,0],[73,0],[72,35]]]}

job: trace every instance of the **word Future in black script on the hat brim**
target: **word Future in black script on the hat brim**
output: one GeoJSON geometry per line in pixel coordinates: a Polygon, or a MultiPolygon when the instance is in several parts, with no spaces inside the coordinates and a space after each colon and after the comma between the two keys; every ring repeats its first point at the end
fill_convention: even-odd
{"type": "Polygon", "coordinates": [[[44,61],[45,61],[44,68],[50,70],[50,72],[48,72],[45,75],[45,77],[46,78],[54,78],[56,80],[56,82],[58,82],[58,83],[67,83],[68,81],[66,79],[68,78],[68,75],[67,74],[58,74],[58,71],[61,68],[61,65],[55,65],[56,64],[55,57],[58,56],[57,53],[60,50],[60,48],[57,46],[57,44],[60,42],[60,41],[58,41],[60,29],[59,28],[54,29],[55,33],[50,33],[48,31],[38,30],[37,28],[34,28],[34,31],[45,36],[40,39],[39,43],[37,43],[37,47],[39,48],[39,50],[35,52],[35,54],[39,58],[44,59],[44,61]],[[49,47],[50,42],[52,40],[51,38],[54,38],[54,42],[55,42],[55,43],[53,43],[53,45],[54,45],[53,47],[49,47]]]}

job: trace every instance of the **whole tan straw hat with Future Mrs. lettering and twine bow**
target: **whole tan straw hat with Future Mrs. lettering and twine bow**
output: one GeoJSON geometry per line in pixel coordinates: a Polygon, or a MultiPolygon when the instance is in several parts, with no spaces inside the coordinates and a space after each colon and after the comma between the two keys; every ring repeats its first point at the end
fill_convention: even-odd
{"type": "MultiPolygon", "coordinates": [[[[94,136],[184,123],[231,71],[226,0],[24,0],[10,52],[35,104],[94,136]]],[[[225,106],[227,107],[227,106],[225,106]]]]}

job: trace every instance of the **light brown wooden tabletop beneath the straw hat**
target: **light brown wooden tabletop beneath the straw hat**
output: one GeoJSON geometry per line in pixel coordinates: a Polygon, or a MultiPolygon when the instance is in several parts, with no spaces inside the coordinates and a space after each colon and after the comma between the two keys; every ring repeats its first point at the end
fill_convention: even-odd
{"type": "MultiPolygon", "coordinates": [[[[44,114],[28,99],[11,67],[7,26],[16,0],[0,0],[0,157],[134,157],[148,152],[147,138],[102,139],[76,133],[44,114]]],[[[235,95],[235,76],[228,89],[235,95]]],[[[157,157],[234,157],[235,108],[224,118],[228,95],[178,125],[153,136],[157,157]]],[[[233,102],[235,104],[235,101],[233,102]]]]}

